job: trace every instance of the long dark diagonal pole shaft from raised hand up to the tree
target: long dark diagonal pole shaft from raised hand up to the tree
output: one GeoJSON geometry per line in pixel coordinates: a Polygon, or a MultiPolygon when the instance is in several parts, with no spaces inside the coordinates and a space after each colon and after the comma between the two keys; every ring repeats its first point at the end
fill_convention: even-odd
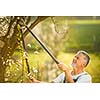
{"type": "Polygon", "coordinates": [[[32,34],[32,36],[40,43],[40,45],[45,49],[45,51],[51,56],[51,58],[59,64],[59,61],[55,58],[55,56],[49,51],[49,49],[43,44],[43,42],[25,25],[27,30],[32,34]]]}

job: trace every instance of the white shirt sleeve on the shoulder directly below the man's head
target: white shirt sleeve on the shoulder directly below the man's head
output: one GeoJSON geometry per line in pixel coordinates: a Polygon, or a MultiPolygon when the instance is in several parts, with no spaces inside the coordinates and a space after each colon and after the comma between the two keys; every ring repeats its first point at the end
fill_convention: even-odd
{"type": "Polygon", "coordinates": [[[76,83],[92,83],[92,78],[90,75],[83,75],[78,78],[76,83]]]}

